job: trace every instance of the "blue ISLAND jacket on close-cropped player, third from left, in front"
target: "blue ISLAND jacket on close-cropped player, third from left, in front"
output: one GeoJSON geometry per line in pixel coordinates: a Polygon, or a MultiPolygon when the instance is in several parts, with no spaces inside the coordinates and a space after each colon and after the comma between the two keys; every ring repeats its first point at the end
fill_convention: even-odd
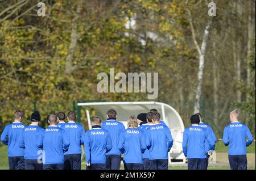
{"type": "Polygon", "coordinates": [[[69,144],[64,130],[53,125],[49,125],[36,141],[36,146],[44,150],[44,165],[64,163],[64,151],[68,150],[69,144]]]}

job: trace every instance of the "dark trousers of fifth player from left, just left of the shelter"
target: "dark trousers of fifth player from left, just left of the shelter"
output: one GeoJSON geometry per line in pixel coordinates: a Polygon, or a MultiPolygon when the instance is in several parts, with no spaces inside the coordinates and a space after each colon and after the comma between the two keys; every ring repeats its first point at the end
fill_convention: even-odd
{"type": "Polygon", "coordinates": [[[64,170],[81,170],[81,154],[64,155],[64,170]]]}

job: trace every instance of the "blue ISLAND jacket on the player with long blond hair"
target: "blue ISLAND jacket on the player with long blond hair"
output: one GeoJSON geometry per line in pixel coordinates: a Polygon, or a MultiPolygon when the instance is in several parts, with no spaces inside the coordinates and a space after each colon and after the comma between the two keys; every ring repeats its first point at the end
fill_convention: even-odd
{"type": "Polygon", "coordinates": [[[121,133],[118,148],[123,155],[123,163],[143,163],[142,153],[146,150],[144,131],[127,128],[121,133]]]}

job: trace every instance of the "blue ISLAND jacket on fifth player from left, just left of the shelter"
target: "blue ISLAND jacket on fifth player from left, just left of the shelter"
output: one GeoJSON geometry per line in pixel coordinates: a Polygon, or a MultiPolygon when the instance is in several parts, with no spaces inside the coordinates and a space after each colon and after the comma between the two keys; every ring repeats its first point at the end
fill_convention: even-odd
{"type": "Polygon", "coordinates": [[[84,145],[84,128],[80,124],[76,124],[74,121],[69,121],[68,123],[62,124],[61,127],[64,129],[65,134],[69,138],[69,148],[68,151],[64,153],[67,154],[81,154],[81,145],[84,145]]]}

